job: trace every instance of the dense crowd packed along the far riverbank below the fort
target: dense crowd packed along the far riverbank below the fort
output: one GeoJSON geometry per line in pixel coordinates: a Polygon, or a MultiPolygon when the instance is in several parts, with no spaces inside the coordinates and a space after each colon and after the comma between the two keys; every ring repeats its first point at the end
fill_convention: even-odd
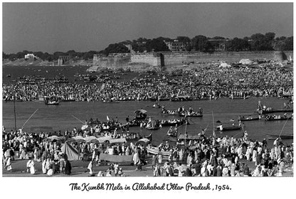
{"type": "Polygon", "coordinates": [[[292,95],[293,72],[275,68],[200,68],[187,70],[181,77],[161,74],[135,77],[129,82],[106,80],[102,83],[53,82],[3,84],[4,101],[38,100],[57,96],[75,101],[127,101],[171,99],[189,95],[191,99],[218,97],[282,97],[292,95]]]}

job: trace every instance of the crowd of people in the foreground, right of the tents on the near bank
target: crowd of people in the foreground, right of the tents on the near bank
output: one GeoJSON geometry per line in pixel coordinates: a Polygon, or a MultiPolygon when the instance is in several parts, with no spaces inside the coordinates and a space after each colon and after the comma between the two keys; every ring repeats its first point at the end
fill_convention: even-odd
{"type": "Polygon", "coordinates": [[[282,176],[285,166],[293,162],[293,146],[275,139],[267,141],[218,137],[214,142],[201,139],[187,149],[169,149],[169,161],[162,166],[162,154],[154,156],[154,176],[282,176]],[[214,143],[214,144],[213,144],[214,143]],[[183,161],[184,164],[177,163],[183,161]],[[248,165],[255,163],[252,171],[248,165]]]}

